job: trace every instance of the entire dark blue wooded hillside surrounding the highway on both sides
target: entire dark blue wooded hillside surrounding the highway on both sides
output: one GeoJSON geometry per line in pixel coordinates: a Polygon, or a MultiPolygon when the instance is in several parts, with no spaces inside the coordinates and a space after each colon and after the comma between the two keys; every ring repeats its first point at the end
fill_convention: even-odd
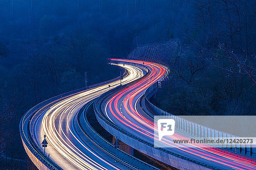
{"type": "Polygon", "coordinates": [[[18,129],[29,108],[84,87],[84,71],[89,85],[117,77],[106,59],[144,44],[181,46],[159,107],[255,114],[255,16],[254,0],[0,0],[0,167],[35,168],[18,129]]]}

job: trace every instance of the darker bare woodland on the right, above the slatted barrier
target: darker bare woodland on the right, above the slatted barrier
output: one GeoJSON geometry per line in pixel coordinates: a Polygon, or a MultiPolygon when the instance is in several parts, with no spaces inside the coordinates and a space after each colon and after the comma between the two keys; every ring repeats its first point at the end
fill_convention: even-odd
{"type": "Polygon", "coordinates": [[[192,7],[192,24],[177,23],[186,37],[179,35],[179,64],[152,102],[176,115],[256,115],[256,2],[209,0],[192,7]]]}

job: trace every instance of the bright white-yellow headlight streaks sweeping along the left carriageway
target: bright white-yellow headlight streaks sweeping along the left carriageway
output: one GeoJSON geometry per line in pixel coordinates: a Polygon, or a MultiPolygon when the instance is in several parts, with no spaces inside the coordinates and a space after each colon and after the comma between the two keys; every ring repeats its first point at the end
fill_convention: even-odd
{"type": "MultiPolygon", "coordinates": [[[[144,75],[143,70],[140,68],[131,65],[120,66],[128,71],[128,75],[124,77],[122,84],[132,82],[136,79],[139,79],[140,77],[143,77],[144,75]]],[[[120,170],[120,168],[116,167],[116,165],[106,161],[102,158],[102,156],[99,156],[97,153],[91,150],[90,147],[87,147],[86,144],[81,142],[77,137],[76,132],[74,132],[74,127],[72,124],[74,115],[76,115],[79,108],[81,108],[86,102],[95,99],[109,89],[117,87],[119,84],[120,80],[116,80],[115,82],[111,82],[109,84],[102,85],[88,91],[80,92],[75,95],[70,95],[69,97],[56,100],[51,102],[49,105],[39,109],[39,111],[48,109],[46,112],[44,112],[41,122],[41,130],[44,134],[47,135],[47,140],[49,141],[48,143],[56,151],[58,151],[61,156],[67,159],[71,164],[75,165],[78,169],[108,170],[107,167],[98,163],[100,160],[111,167],[113,170],[120,170]],[[81,147],[77,147],[77,143],[82,146],[82,149],[81,147]],[[83,152],[84,150],[87,150],[91,155],[93,155],[93,157],[87,156],[83,152]]],[[[33,128],[35,125],[37,124],[34,123],[33,128]]],[[[38,145],[41,145],[39,141],[38,145]]],[[[58,162],[58,160],[55,160],[57,158],[51,158],[53,161],[58,162]]]]}

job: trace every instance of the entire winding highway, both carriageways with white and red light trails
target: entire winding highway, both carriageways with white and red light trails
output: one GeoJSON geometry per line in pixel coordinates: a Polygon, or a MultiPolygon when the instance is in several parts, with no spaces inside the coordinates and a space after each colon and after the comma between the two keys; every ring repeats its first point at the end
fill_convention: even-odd
{"type": "MultiPolygon", "coordinates": [[[[132,135],[154,144],[154,131],[157,131],[154,128],[154,119],[145,112],[147,111],[145,108],[140,107],[139,101],[151,84],[167,76],[168,69],[152,62],[128,59],[112,60],[125,62],[125,65],[119,64],[128,72],[122,80],[122,84],[130,83],[130,85],[127,88],[122,88],[111,98],[106,99],[103,109],[105,117],[132,135]],[[147,67],[148,74],[140,67],[127,64],[129,62],[133,65],[135,63],[147,67]],[[145,74],[146,76],[144,76],[145,74]],[[134,82],[137,79],[140,80],[134,82]]],[[[46,155],[49,154],[50,159],[64,170],[128,170],[128,167],[116,162],[112,157],[93,145],[84,135],[77,120],[78,112],[86,103],[119,85],[120,80],[116,80],[69,96],[61,96],[61,99],[56,99],[42,106],[36,110],[35,114],[33,113],[31,118],[28,117],[22,122],[24,125],[29,122],[28,127],[32,139],[43,151],[44,148],[42,148],[41,142],[44,139],[44,134],[47,136],[49,144],[46,155]]],[[[222,152],[214,148],[192,147],[192,144],[187,144],[187,147],[180,147],[179,144],[172,142],[173,139],[190,138],[182,133],[163,137],[163,141],[172,146],[165,148],[166,150],[203,164],[223,170],[256,169],[255,159],[232,155],[229,151],[222,152]]],[[[36,164],[35,161],[34,163],[36,164]]]]}

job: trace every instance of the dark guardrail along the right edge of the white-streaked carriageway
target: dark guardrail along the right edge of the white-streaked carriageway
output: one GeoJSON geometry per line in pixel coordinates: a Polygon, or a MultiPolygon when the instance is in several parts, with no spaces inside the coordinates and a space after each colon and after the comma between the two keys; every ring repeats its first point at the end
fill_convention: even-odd
{"type": "Polygon", "coordinates": [[[93,105],[93,103],[96,101],[94,99],[93,101],[87,103],[83,109],[81,109],[78,113],[77,119],[79,126],[81,130],[84,132],[85,136],[94,144],[96,145],[99,149],[101,149],[103,152],[111,156],[113,159],[116,159],[125,165],[126,167],[129,167],[131,170],[160,170],[156,167],[151,166],[150,164],[147,164],[140,159],[135,158],[134,156],[129,155],[128,153],[125,153],[124,151],[117,149],[118,150],[118,156],[115,155],[116,153],[116,148],[114,148],[114,145],[111,142],[108,142],[105,138],[103,138],[99,133],[97,133],[93,127],[91,127],[90,123],[87,120],[87,113],[88,109],[93,105]],[[81,114],[83,113],[83,116],[81,114]],[[80,119],[84,121],[86,124],[85,127],[81,125],[80,119]],[[84,129],[86,128],[86,130],[84,129]],[[103,145],[103,146],[102,146],[103,145]],[[132,162],[132,164],[130,163],[132,162]]]}

